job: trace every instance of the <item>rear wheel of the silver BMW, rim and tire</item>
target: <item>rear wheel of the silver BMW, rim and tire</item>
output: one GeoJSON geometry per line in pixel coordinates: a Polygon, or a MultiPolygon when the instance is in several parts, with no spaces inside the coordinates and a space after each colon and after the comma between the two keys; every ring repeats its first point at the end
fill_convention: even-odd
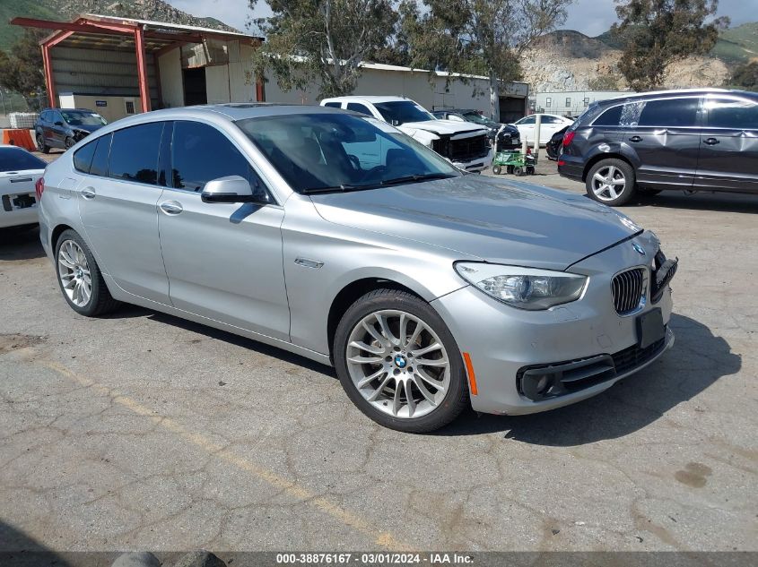
{"type": "Polygon", "coordinates": [[[76,313],[95,317],[118,306],[90,248],[74,230],[65,230],[58,238],[56,269],[61,292],[76,313]]]}

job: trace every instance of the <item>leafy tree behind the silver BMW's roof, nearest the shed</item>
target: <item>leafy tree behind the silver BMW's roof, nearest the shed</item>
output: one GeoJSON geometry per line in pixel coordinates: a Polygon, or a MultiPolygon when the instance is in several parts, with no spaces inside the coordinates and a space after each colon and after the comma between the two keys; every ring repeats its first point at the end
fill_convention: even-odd
{"type": "MultiPolygon", "coordinates": [[[[255,8],[258,0],[248,0],[255,8]]],[[[394,0],[266,0],[273,14],[255,21],[266,37],[257,76],[270,69],[283,90],[320,81],[322,98],[353,92],[368,54],[388,46],[397,23],[394,0]]]]}

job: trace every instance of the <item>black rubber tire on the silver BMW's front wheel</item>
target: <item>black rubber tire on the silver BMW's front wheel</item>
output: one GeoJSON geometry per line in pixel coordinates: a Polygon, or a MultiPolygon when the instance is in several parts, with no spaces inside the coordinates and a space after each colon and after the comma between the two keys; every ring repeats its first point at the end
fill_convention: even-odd
{"type": "MultiPolygon", "coordinates": [[[[377,331],[376,327],[374,327],[374,329],[377,331]]],[[[409,327],[406,327],[406,331],[408,329],[409,327]]],[[[410,349],[408,349],[408,351],[410,352],[410,349]]],[[[466,386],[466,370],[463,365],[460,350],[457,348],[452,333],[450,333],[445,322],[442,321],[440,315],[437,314],[431,305],[419,297],[411,295],[405,291],[398,291],[396,289],[377,289],[355,301],[355,303],[347,309],[342,320],[337,325],[333,353],[337,376],[339,377],[348,398],[350,398],[367,417],[370,417],[379,425],[384,425],[390,429],[405,433],[429,433],[444,425],[448,425],[469,403],[468,387],[466,386]],[[428,410],[428,413],[423,414],[421,417],[393,416],[389,413],[390,409],[388,407],[388,402],[383,401],[379,404],[378,400],[377,403],[379,405],[388,408],[387,412],[382,411],[375,407],[368,399],[364,398],[362,392],[358,390],[356,384],[353,382],[353,375],[351,374],[347,360],[347,357],[349,356],[348,343],[351,342],[351,335],[359,329],[364,318],[369,317],[371,314],[378,314],[382,311],[399,311],[417,318],[427,329],[430,329],[436,335],[436,337],[432,338],[433,340],[440,340],[443,348],[442,356],[444,357],[447,355],[447,360],[449,362],[449,383],[447,391],[442,394],[442,398],[436,403],[436,407],[428,410]]],[[[381,359],[387,354],[388,353],[384,353],[384,355],[378,355],[378,357],[381,359]]],[[[409,366],[406,370],[411,370],[411,365],[415,364],[414,360],[416,359],[418,358],[408,356],[407,360],[409,361],[409,366]]],[[[385,358],[385,360],[387,360],[387,358],[385,358]]],[[[380,362],[379,365],[384,365],[384,362],[380,362]]],[[[370,365],[362,365],[362,367],[367,366],[370,365]]],[[[371,368],[367,372],[370,371],[373,374],[373,370],[374,369],[371,368]]],[[[397,371],[395,371],[395,373],[397,373],[397,371]]],[[[383,392],[386,391],[386,388],[389,386],[387,381],[394,382],[393,385],[399,383],[396,380],[392,380],[389,372],[380,374],[377,382],[380,380],[385,381],[381,386],[385,386],[385,384],[387,385],[385,387],[374,387],[370,383],[367,385],[370,388],[374,388],[374,391],[383,392]]],[[[424,386],[426,387],[425,383],[424,386]]],[[[429,389],[431,389],[431,387],[429,389]]],[[[429,389],[427,391],[429,391],[429,389]]],[[[420,393],[420,391],[418,392],[420,393]]],[[[437,391],[437,393],[439,394],[440,392],[437,391]]],[[[399,399],[399,397],[397,399],[399,399]]],[[[415,408],[419,408],[423,403],[424,400],[419,399],[415,402],[415,404],[418,405],[414,404],[414,406],[415,408]]],[[[405,407],[407,407],[407,403],[405,404],[405,407]]],[[[427,408],[428,407],[429,406],[427,406],[427,408]]]]}

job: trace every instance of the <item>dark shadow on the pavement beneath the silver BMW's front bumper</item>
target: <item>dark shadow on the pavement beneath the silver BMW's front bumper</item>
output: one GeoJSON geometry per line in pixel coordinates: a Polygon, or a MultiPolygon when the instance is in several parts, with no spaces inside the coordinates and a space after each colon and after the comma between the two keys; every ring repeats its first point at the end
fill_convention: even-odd
{"type": "Polygon", "coordinates": [[[650,425],[741,368],[742,359],[728,342],[700,322],[674,314],[670,326],[676,336],[674,348],[594,398],[528,416],[477,416],[470,411],[436,435],[498,433],[554,447],[616,439],[650,425]]]}

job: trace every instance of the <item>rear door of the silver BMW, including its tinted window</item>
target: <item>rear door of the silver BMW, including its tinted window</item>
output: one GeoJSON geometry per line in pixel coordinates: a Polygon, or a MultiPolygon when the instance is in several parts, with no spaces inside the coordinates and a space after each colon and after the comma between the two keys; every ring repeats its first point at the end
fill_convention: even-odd
{"type": "Polygon", "coordinates": [[[163,125],[132,126],[99,138],[78,199],[102,271],[126,292],[168,305],[157,212],[163,125]]]}

